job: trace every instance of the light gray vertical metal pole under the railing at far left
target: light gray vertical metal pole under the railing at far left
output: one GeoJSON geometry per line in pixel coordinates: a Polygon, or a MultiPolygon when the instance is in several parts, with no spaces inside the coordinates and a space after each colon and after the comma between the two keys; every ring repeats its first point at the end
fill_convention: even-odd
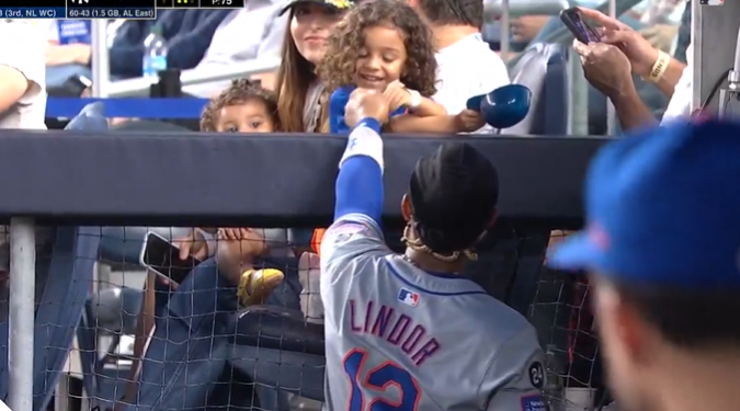
{"type": "Polygon", "coordinates": [[[32,218],[10,219],[8,404],[33,411],[36,235],[32,218]]]}

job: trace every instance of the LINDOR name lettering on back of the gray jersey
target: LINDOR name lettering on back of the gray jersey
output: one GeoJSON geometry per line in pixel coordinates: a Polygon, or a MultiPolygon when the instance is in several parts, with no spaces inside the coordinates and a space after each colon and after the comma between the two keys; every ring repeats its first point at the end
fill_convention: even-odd
{"type": "Polygon", "coordinates": [[[413,323],[411,317],[373,300],[367,301],[364,312],[354,299],[350,300],[350,327],[356,334],[376,336],[400,347],[417,366],[441,349],[435,338],[426,335],[424,326],[413,323]]]}

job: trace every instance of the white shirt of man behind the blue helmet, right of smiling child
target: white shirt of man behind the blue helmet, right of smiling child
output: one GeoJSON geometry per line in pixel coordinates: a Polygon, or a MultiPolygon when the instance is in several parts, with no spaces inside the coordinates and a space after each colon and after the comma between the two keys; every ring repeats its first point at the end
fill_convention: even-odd
{"type": "Polygon", "coordinates": [[[447,114],[459,114],[468,99],[490,93],[510,83],[506,65],[483,42],[480,34],[469,35],[436,54],[437,92],[432,100],[447,114]]]}

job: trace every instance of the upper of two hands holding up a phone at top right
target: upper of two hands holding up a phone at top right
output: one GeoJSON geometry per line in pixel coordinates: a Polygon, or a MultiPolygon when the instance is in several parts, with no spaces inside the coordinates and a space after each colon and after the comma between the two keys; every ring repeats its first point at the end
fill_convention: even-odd
{"type": "Polygon", "coordinates": [[[652,65],[658,60],[658,49],[627,24],[613,19],[599,10],[578,8],[583,16],[594,21],[602,28],[602,43],[618,47],[627,56],[634,73],[642,77],[650,75],[652,65]]]}

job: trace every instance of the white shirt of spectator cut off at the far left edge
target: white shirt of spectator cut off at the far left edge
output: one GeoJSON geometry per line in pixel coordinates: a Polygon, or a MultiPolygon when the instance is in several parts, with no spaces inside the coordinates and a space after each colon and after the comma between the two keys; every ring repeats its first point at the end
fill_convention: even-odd
{"type": "Polygon", "coordinates": [[[46,65],[49,26],[36,20],[0,21],[0,65],[12,67],[29,80],[21,100],[0,113],[0,128],[46,129],[46,65]],[[11,41],[11,39],[22,41],[11,41]]]}

